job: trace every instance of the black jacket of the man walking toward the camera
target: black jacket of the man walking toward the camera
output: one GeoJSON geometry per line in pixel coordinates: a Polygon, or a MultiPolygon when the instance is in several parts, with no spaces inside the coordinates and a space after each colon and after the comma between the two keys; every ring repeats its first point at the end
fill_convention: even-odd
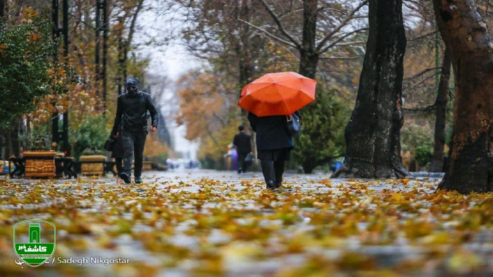
{"type": "Polygon", "coordinates": [[[152,126],[157,127],[158,112],[148,93],[139,91],[135,96],[128,93],[120,95],[116,104],[116,116],[111,134],[120,131],[147,131],[147,111],[151,114],[152,126]]]}

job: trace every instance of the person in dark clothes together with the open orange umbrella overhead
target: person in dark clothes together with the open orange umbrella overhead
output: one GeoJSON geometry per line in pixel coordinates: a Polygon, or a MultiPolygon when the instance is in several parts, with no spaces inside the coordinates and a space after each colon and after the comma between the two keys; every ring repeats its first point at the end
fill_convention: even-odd
{"type": "Polygon", "coordinates": [[[316,84],[298,73],[280,72],[265,74],[242,90],[238,106],[248,110],[268,189],[282,185],[285,162],[294,149],[288,123],[293,117],[299,121],[299,109],[315,100],[316,84]]]}

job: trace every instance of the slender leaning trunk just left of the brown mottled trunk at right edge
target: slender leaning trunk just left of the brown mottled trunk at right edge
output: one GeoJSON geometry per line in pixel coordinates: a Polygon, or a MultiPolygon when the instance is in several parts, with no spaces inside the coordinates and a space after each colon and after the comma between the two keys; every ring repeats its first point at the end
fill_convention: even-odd
{"type": "Polygon", "coordinates": [[[441,172],[443,168],[443,147],[445,145],[445,119],[447,115],[447,97],[449,95],[450,51],[445,49],[442,62],[442,73],[438,85],[438,95],[436,96],[435,108],[435,145],[433,149],[433,159],[429,172],[441,172]]]}

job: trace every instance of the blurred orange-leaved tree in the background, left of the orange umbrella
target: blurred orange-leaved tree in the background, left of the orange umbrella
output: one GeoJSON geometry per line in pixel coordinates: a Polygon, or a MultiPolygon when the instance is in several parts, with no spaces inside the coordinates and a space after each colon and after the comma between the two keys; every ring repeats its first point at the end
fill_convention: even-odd
{"type": "Polygon", "coordinates": [[[238,90],[227,80],[219,73],[192,71],[178,81],[176,122],[186,127],[185,138],[200,140],[197,156],[206,167],[220,164],[240,124],[238,90]]]}

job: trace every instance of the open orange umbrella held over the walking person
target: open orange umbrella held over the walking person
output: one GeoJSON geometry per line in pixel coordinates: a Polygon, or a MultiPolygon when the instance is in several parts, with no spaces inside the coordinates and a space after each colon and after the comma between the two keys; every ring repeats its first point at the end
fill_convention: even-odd
{"type": "Polygon", "coordinates": [[[315,85],[296,72],[265,74],[243,88],[238,105],[256,116],[292,114],[315,100],[315,85]]]}

